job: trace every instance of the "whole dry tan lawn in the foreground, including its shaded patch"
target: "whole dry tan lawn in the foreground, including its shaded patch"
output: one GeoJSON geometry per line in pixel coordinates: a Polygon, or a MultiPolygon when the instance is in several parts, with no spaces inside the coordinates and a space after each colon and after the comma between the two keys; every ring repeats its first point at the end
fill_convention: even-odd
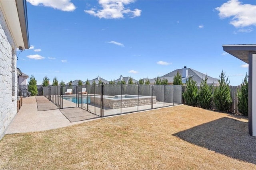
{"type": "Polygon", "coordinates": [[[176,106],[6,135],[0,169],[256,169],[244,117],[176,106]]]}

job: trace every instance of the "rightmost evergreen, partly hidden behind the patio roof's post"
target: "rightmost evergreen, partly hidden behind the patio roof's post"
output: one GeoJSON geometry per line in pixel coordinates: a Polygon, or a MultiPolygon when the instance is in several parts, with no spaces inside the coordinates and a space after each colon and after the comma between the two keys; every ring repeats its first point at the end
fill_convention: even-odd
{"type": "Polygon", "coordinates": [[[237,93],[238,111],[245,116],[248,116],[248,75],[246,73],[242,82],[241,89],[237,93]]]}

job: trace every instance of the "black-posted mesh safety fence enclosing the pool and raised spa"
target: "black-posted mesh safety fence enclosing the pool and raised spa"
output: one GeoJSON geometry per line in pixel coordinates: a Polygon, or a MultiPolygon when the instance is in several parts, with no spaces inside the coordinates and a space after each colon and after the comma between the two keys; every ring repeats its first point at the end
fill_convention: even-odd
{"type": "Polygon", "coordinates": [[[43,92],[60,108],[80,107],[100,117],[182,104],[181,85],[48,86],[43,92]]]}

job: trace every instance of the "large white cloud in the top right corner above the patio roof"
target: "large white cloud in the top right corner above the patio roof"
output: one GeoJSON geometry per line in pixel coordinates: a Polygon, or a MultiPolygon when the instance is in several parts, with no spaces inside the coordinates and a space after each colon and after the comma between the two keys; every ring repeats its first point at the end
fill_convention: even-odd
{"type": "Polygon", "coordinates": [[[220,12],[220,18],[232,17],[230,24],[235,27],[256,25],[256,5],[242,4],[239,0],[229,0],[215,9],[220,12]]]}

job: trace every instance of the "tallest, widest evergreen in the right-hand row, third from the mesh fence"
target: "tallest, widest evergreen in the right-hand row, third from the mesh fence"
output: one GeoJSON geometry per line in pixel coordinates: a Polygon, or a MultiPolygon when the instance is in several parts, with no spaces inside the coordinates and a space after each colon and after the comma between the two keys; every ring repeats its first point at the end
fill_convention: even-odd
{"type": "Polygon", "coordinates": [[[225,80],[226,74],[223,72],[223,70],[219,77],[219,86],[217,86],[214,90],[214,104],[219,111],[229,111],[232,104],[232,98],[230,95],[228,77],[225,80]]]}

